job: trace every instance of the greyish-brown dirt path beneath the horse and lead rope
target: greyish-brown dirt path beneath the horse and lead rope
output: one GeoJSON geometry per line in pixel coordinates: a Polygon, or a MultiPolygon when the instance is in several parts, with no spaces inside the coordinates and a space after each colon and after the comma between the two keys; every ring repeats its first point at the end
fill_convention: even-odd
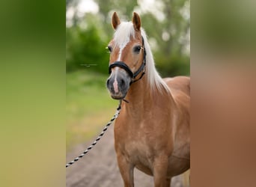
{"type": "MultiPolygon", "coordinates": [[[[113,125],[87,155],[66,168],[66,187],[123,186],[115,157],[113,125]]],[[[93,141],[74,147],[70,153],[67,153],[67,162],[79,156],[93,141]]],[[[134,177],[135,187],[153,187],[153,177],[137,169],[135,169],[134,177]]],[[[187,187],[183,185],[183,176],[172,178],[171,187],[187,187]]]]}

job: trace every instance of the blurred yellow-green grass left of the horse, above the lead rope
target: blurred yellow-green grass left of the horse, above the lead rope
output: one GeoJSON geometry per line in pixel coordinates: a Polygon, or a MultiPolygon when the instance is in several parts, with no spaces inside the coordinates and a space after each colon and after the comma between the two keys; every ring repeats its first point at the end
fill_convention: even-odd
{"type": "Polygon", "coordinates": [[[115,113],[118,102],[109,96],[107,77],[89,70],[67,73],[67,150],[97,135],[115,113]]]}

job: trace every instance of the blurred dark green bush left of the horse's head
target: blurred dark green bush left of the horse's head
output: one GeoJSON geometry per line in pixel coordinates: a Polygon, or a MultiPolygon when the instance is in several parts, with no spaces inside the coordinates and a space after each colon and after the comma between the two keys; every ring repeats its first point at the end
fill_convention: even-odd
{"type": "Polygon", "coordinates": [[[106,37],[95,24],[87,24],[85,29],[78,25],[66,29],[67,72],[90,68],[107,73],[109,53],[106,37]]]}

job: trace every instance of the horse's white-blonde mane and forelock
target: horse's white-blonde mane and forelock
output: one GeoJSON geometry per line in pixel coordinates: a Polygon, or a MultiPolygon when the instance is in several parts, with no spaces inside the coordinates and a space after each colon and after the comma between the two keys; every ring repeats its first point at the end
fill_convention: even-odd
{"type": "MultiPolygon", "coordinates": [[[[147,34],[143,28],[141,28],[141,36],[144,38],[144,48],[147,52],[146,73],[144,76],[147,77],[150,89],[153,91],[157,89],[160,92],[162,92],[162,89],[165,89],[165,91],[170,91],[168,85],[165,84],[161,76],[159,76],[159,73],[156,71],[153,55],[147,41],[147,34]]],[[[129,43],[130,37],[135,38],[135,30],[132,22],[121,22],[114,34],[115,45],[120,49],[124,49],[127,43],[129,43]]]]}

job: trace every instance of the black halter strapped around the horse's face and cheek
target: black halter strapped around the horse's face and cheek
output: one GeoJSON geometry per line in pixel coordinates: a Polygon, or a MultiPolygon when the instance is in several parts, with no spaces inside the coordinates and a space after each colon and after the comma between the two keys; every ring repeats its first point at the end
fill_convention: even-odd
{"type": "Polygon", "coordinates": [[[109,74],[112,73],[113,67],[121,67],[122,69],[126,70],[129,76],[132,78],[132,81],[129,83],[129,85],[131,85],[133,82],[137,82],[138,80],[140,80],[145,74],[144,67],[146,66],[146,55],[147,55],[146,49],[144,47],[143,37],[142,37],[142,49],[144,51],[143,63],[141,64],[141,67],[139,67],[138,70],[135,71],[135,73],[132,73],[132,70],[129,69],[129,67],[127,66],[127,64],[124,63],[124,61],[115,61],[113,64],[109,65],[109,74]],[[141,73],[141,71],[143,72],[141,73]],[[135,80],[136,76],[138,76],[139,73],[141,73],[141,76],[135,80]]]}

